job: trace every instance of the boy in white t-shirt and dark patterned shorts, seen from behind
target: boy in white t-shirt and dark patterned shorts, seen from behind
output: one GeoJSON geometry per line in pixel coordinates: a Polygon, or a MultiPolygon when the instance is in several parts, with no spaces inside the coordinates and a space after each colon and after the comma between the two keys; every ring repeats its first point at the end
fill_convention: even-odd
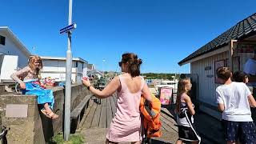
{"type": "Polygon", "coordinates": [[[222,112],[225,138],[228,144],[238,142],[255,143],[256,128],[251,118],[250,106],[256,107],[254,97],[243,82],[232,82],[227,67],[217,70],[219,82],[216,89],[218,110],[222,112]]]}

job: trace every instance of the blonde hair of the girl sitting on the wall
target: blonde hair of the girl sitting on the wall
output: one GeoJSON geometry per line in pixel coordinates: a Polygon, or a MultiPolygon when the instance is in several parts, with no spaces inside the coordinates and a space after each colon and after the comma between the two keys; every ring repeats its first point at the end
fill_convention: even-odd
{"type": "Polygon", "coordinates": [[[42,59],[38,55],[30,55],[28,63],[29,63],[28,65],[30,66],[30,69],[36,72],[36,74],[38,75],[38,78],[40,79],[41,78],[40,70],[42,69],[42,59]],[[38,68],[34,66],[34,62],[39,63],[38,68]]]}

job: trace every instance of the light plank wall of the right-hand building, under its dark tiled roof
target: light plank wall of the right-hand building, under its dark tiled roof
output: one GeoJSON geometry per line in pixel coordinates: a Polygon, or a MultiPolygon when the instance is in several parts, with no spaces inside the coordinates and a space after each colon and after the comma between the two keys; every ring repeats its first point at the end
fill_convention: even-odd
{"type": "MultiPolygon", "coordinates": [[[[239,70],[243,70],[246,61],[249,58],[253,58],[253,56],[253,53],[238,53],[236,47],[234,47],[233,65],[238,64],[238,58],[240,65],[234,67],[239,67],[239,70]]],[[[217,109],[215,90],[217,86],[219,86],[219,84],[214,82],[214,62],[226,60],[228,58],[229,52],[226,51],[221,54],[216,54],[190,63],[191,74],[198,74],[198,101],[200,102],[200,110],[219,119],[221,119],[221,114],[217,110],[214,110],[214,108],[217,109]],[[211,66],[211,70],[205,70],[206,66],[211,66]],[[209,77],[210,75],[213,77],[209,77]]],[[[228,62],[230,62],[230,60],[228,60],[228,62]]],[[[230,66],[230,63],[227,65],[230,66]]],[[[236,70],[237,69],[234,69],[234,71],[236,70]]]]}

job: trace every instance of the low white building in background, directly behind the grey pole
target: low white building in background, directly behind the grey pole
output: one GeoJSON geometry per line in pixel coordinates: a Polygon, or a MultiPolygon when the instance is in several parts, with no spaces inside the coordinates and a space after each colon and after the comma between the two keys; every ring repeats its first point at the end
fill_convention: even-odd
{"type": "MultiPolygon", "coordinates": [[[[45,57],[42,58],[42,78],[57,78],[56,81],[65,81],[66,79],[66,58],[45,57]]],[[[88,62],[82,58],[73,58],[72,61],[72,81],[82,82],[82,77],[86,75],[88,62]]]]}

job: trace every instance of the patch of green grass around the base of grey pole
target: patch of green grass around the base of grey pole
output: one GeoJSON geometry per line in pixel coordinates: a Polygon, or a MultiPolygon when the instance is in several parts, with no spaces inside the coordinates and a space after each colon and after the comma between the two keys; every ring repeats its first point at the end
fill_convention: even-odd
{"type": "Polygon", "coordinates": [[[84,142],[84,138],[81,134],[70,134],[70,140],[64,141],[63,134],[57,134],[53,139],[51,144],[82,144],[84,142]]]}

